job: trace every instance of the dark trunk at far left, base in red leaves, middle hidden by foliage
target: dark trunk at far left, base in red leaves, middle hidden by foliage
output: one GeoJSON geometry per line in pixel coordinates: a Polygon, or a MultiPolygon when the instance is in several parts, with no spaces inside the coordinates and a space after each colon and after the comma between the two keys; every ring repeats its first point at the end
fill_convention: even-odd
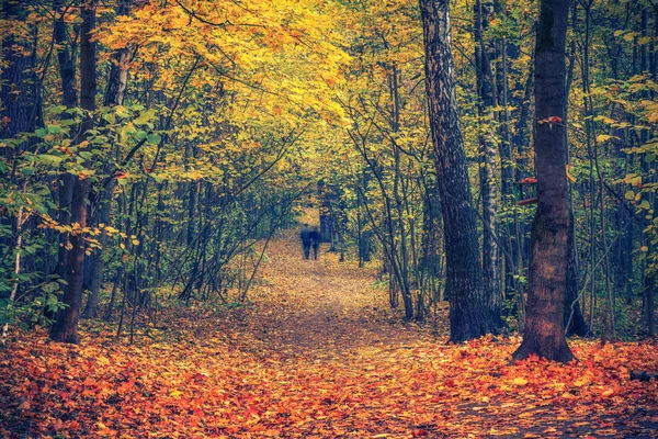
{"type": "MultiPolygon", "coordinates": [[[[80,29],[80,105],[87,110],[84,121],[80,126],[82,135],[93,128],[91,112],[95,110],[95,43],[92,32],[95,26],[95,0],[87,0],[81,9],[82,25],[80,29]]],[[[82,228],[87,225],[87,199],[89,182],[83,176],[75,177],[71,205],[71,224],[78,223],[80,229],[71,233],[69,256],[66,264],[67,286],[63,302],[68,307],[57,313],[50,338],[60,342],[77,344],[78,322],[80,319],[80,305],[82,303],[82,272],[84,268],[84,234],[82,228]]]]}

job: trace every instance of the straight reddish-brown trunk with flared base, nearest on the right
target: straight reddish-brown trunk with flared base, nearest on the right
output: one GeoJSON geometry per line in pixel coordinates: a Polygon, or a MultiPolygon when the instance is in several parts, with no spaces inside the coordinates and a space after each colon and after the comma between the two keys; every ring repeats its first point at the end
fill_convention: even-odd
{"type": "Polygon", "coordinates": [[[564,331],[569,262],[569,215],[565,45],[568,0],[542,0],[535,45],[534,151],[538,205],[532,225],[527,312],[515,360],[536,354],[551,361],[574,358],[564,331]]]}

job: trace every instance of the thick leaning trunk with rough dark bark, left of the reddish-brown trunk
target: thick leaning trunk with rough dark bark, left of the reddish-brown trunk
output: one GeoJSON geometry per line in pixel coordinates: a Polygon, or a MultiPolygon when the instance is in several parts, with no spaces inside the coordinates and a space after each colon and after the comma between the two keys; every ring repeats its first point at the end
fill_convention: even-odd
{"type": "Polygon", "coordinates": [[[466,156],[453,87],[447,0],[420,0],[426,83],[445,230],[451,341],[498,333],[483,291],[483,270],[466,156]]]}

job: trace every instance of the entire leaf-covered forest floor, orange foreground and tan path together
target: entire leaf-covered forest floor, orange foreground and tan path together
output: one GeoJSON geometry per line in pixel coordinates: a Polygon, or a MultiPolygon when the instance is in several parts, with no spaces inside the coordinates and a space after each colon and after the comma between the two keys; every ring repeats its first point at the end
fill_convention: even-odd
{"type": "Polygon", "coordinates": [[[447,345],[445,309],[402,323],[374,266],[303,260],[292,230],[266,255],[248,305],[166,307],[133,345],[99,320],[80,346],[12,329],[0,437],[658,437],[658,383],[628,379],[656,345],[510,364],[518,337],[447,345]]]}

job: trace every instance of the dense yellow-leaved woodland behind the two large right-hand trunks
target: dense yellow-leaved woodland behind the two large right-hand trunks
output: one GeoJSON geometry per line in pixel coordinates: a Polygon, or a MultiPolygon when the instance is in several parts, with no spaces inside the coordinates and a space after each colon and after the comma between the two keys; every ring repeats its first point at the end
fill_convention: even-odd
{"type": "MultiPolygon", "coordinates": [[[[658,12],[568,7],[567,115],[538,121],[568,142],[565,325],[653,336],[658,12]]],[[[478,288],[519,331],[537,11],[451,4],[478,288]]],[[[416,2],[8,0],[1,24],[1,323],[77,341],[75,309],[132,325],[172,299],[245,302],[257,243],[307,207],[341,260],[381,263],[405,318],[450,299],[416,2]]]]}

